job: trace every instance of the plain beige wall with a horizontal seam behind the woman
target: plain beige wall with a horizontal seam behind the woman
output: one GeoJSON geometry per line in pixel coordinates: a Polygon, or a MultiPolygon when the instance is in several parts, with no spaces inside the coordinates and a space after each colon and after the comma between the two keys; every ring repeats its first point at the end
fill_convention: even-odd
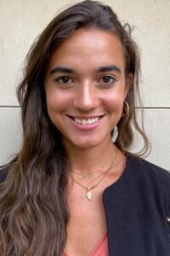
{"type": "MultiPolygon", "coordinates": [[[[145,127],[152,152],[148,160],[170,170],[170,1],[108,0],[124,22],[142,56],[145,127]]],[[[75,1],[0,0],[0,163],[20,148],[20,108],[15,87],[22,61],[37,35],[75,1]]]]}

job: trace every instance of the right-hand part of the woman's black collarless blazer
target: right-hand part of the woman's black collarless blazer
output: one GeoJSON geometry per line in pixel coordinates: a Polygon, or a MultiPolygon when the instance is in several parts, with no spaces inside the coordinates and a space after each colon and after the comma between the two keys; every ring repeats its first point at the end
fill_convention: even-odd
{"type": "Polygon", "coordinates": [[[127,157],[103,193],[110,256],[170,256],[170,173],[127,157]]]}

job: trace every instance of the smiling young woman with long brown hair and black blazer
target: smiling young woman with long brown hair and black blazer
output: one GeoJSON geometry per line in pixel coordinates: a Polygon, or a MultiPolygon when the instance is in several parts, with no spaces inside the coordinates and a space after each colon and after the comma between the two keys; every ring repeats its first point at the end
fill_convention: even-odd
{"type": "Polygon", "coordinates": [[[23,144],[0,172],[1,255],[168,256],[170,174],[128,153],[134,130],[148,146],[129,26],[98,2],[66,9],[33,44],[18,96],[23,144]]]}

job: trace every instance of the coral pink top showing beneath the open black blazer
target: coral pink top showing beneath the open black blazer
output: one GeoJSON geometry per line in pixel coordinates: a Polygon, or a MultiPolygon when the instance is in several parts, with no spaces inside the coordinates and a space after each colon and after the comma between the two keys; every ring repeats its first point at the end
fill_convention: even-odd
{"type": "MultiPolygon", "coordinates": [[[[64,253],[63,256],[69,255],[64,253]]],[[[105,235],[99,240],[89,256],[109,256],[107,233],[105,233],[105,235]]]]}

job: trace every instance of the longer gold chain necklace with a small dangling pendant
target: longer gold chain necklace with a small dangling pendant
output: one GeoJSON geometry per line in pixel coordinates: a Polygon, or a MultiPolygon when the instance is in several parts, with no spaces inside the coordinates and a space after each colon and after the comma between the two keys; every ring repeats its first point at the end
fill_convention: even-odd
{"type": "MultiPolygon", "coordinates": [[[[92,194],[92,191],[91,191],[91,190],[92,190],[92,189],[95,189],[95,188],[99,185],[99,183],[102,182],[102,180],[104,179],[106,173],[111,170],[111,167],[112,167],[113,164],[115,163],[116,156],[117,156],[117,152],[118,152],[118,149],[116,149],[116,155],[115,155],[113,161],[111,162],[111,166],[109,166],[109,168],[108,168],[104,173],[102,173],[102,177],[101,177],[101,178],[99,179],[99,181],[98,181],[97,183],[95,183],[93,186],[86,187],[86,186],[82,185],[82,183],[79,183],[79,182],[77,181],[77,179],[75,179],[75,178],[71,175],[71,177],[72,177],[72,179],[73,179],[73,181],[74,181],[75,183],[77,183],[77,184],[78,184],[79,186],[81,186],[83,189],[86,189],[85,197],[87,197],[88,200],[92,200],[92,197],[93,197],[93,194],[92,194]]],[[[101,174],[100,174],[98,177],[100,177],[100,176],[101,176],[101,174]]],[[[98,177],[96,177],[96,178],[98,178],[98,177]]],[[[96,179],[96,178],[95,178],[95,179],[96,179]]]]}

